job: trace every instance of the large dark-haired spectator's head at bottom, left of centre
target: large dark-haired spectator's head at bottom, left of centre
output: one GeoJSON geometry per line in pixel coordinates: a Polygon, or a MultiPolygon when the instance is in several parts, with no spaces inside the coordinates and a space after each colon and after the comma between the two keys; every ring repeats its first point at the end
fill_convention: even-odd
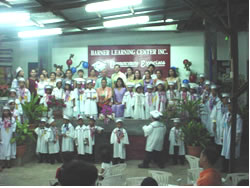
{"type": "Polygon", "coordinates": [[[98,171],[93,164],[73,160],[64,166],[61,184],[63,186],[93,186],[97,177],[98,171]]]}

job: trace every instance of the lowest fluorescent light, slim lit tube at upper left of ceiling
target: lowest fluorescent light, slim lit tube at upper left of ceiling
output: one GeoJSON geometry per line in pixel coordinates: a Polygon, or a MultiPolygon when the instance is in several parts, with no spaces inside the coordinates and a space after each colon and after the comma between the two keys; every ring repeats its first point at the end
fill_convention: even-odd
{"type": "Polygon", "coordinates": [[[18,37],[19,38],[30,38],[30,37],[40,37],[40,36],[60,35],[60,34],[62,34],[62,29],[61,28],[54,28],[54,29],[21,31],[21,32],[18,32],[18,37]]]}

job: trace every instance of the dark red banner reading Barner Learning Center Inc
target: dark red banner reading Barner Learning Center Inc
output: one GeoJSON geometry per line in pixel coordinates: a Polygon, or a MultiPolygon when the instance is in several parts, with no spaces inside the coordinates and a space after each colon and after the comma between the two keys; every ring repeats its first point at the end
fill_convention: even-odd
{"type": "Polygon", "coordinates": [[[108,76],[114,73],[116,64],[121,66],[123,73],[127,67],[132,67],[139,69],[142,75],[148,65],[154,64],[166,77],[170,67],[170,45],[88,46],[88,62],[89,71],[106,67],[108,76]]]}

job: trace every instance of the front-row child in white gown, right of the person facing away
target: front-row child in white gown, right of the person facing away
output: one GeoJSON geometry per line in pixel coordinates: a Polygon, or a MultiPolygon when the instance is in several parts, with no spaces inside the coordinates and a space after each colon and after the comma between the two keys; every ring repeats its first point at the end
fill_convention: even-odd
{"type": "Polygon", "coordinates": [[[174,127],[171,128],[169,133],[169,155],[173,158],[173,164],[180,163],[184,165],[185,161],[185,145],[183,141],[183,133],[180,128],[180,118],[174,118],[174,127]]]}

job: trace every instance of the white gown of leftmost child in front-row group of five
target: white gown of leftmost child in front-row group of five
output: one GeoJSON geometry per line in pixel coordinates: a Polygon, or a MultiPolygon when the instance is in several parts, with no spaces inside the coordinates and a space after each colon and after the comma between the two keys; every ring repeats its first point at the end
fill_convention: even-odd
{"type": "Polygon", "coordinates": [[[36,153],[48,153],[48,140],[47,140],[47,131],[48,128],[44,127],[43,129],[37,127],[35,129],[35,133],[37,135],[37,142],[36,142],[36,153]]]}

